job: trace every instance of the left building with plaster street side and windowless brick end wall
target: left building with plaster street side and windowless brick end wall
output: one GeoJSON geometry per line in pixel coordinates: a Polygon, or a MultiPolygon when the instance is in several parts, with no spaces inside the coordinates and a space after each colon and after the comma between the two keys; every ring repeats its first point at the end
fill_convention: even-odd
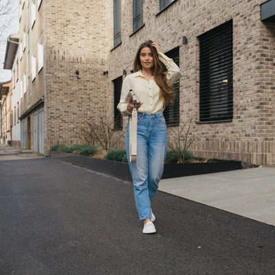
{"type": "Polygon", "coordinates": [[[108,1],[21,0],[21,146],[49,154],[78,143],[85,120],[107,113],[108,1]]]}

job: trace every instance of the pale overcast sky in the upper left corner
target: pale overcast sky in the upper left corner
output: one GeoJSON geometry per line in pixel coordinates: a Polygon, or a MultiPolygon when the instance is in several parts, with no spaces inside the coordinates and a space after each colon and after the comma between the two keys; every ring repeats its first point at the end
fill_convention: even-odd
{"type": "Polygon", "coordinates": [[[19,31],[18,5],[19,0],[0,0],[0,82],[11,79],[10,70],[3,69],[3,62],[8,36],[19,31]],[[3,14],[8,4],[12,5],[12,10],[3,14]]]}

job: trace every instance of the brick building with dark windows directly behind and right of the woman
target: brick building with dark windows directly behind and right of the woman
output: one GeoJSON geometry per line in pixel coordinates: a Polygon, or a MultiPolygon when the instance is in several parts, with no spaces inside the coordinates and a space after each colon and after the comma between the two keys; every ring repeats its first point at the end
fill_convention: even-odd
{"type": "MultiPolygon", "coordinates": [[[[170,140],[192,119],[196,156],[275,164],[274,0],[113,3],[109,80],[119,86],[138,45],[156,41],[184,74],[166,113],[170,140]]],[[[117,103],[120,89],[113,89],[117,103]]]]}

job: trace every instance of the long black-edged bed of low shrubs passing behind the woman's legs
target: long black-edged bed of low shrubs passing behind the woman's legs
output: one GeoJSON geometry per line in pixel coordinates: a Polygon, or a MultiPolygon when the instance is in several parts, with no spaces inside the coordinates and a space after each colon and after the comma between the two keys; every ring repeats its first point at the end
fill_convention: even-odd
{"type": "MultiPolygon", "coordinates": [[[[167,151],[166,162],[164,164],[163,179],[173,177],[184,177],[189,175],[201,175],[208,173],[217,173],[228,170],[241,169],[241,162],[221,159],[200,159],[187,153],[188,159],[185,163],[178,163],[175,158],[175,152],[167,151]]],[[[94,146],[79,146],[75,145],[59,145],[52,146],[50,157],[60,159],[64,162],[69,162],[76,166],[82,166],[99,173],[118,177],[126,181],[131,181],[129,165],[126,159],[126,151],[124,149],[111,149],[104,153],[98,151],[94,146]],[[90,148],[91,147],[91,148],[90,148]],[[71,149],[74,150],[71,150],[71,149]],[[85,148],[85,150],[84,150],[85,148]],[[83,151],[87,153],[83,153],[83,151]],[[71,151],[71,153],[67,153],[71,151]],[[100,153],[98,153],[100,152],[100,153]]]]}

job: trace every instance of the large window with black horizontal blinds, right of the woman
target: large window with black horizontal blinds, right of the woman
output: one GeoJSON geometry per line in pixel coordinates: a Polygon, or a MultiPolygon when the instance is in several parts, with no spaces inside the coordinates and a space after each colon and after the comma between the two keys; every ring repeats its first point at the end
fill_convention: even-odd
{"type": "Polygon", "coordinates": [[[199,36],[199,120],[233,117],[232,21],[199,36]]]}

